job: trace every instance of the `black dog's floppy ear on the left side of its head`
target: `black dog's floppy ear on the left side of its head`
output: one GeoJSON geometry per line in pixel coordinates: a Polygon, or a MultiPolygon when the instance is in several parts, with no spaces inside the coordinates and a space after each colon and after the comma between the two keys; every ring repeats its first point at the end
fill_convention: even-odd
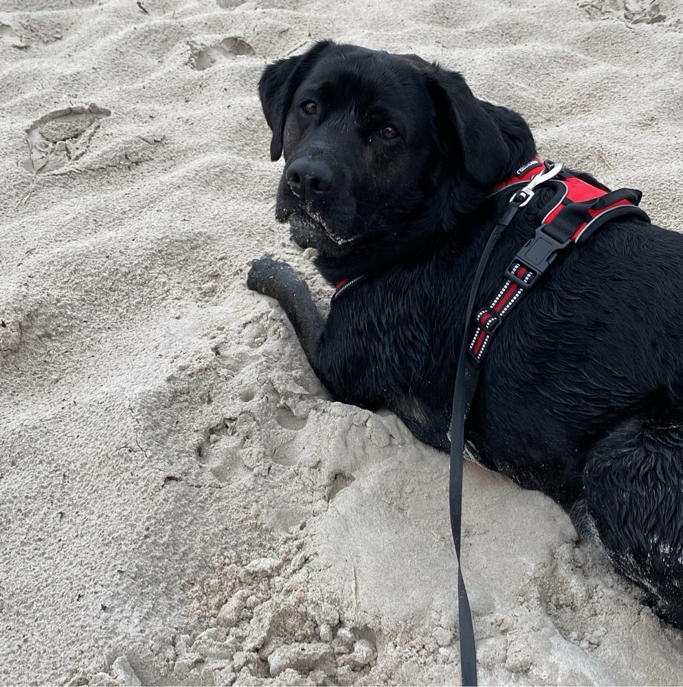
{"type": "Polygon", "coordinates": [[[271,160],[278,160],[282,155],[284,119],[287,117],[294,92],[300,87],[320,55],[331,45],[334,45],[332,41],[320,41],[309,52],[278,60],[263,70],[258,82],[258,95],[266,122],[273,131],[270,142],[271,160]]]}

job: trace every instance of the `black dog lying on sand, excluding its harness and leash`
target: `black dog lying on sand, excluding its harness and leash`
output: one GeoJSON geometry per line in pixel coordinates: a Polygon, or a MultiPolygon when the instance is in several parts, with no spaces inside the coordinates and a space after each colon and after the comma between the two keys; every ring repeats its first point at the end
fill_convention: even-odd
{"type": "MultiPolygon", "coordinates": [[[[287,161],[276,216],[328,282],[352,281],[327,319],[283,262],[256,260],[249,288],[278,299],[335,398],[447,450],[467,294],[511,196],[493,190],[536,155],[526,122],[416,56],[330,42],[269,65],[259,90],[287,161]]],[[[497,244],[481,302],[548,194],[497,244]]],[[[617,219],[565,253],[492,341],[466,435],[683,627],[683,236],[617,219]]]]}

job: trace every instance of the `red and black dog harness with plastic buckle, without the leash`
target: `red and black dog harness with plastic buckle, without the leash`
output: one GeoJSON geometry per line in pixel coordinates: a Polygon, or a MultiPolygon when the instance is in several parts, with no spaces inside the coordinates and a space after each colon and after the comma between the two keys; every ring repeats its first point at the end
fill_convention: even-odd
{"type": "MultiPolygon", "coordinates": [[[[515,175],[497,185],[497,192],[524,185],[537,174],[548,170],[550,163],[538,158],[519,168],[515,175]]],[[[620,188],[610,191],[602,185],[587,183],[569,172],[559,172],[555,179],[544,182],[555,189],[555,195],[537,212],[540,222],[535,236],[517,252],[505,279],[488,307],[475,315],[469,352],[475,363],[480,364],[491,335],[503,318],[519,300],[533,288],[539,277],[555,261],[559,251],[574,243],[583,243],[605,223],[621,216],[631,215],[649,222],[650,219],[638,203],[640,191],[620,188]]]]}

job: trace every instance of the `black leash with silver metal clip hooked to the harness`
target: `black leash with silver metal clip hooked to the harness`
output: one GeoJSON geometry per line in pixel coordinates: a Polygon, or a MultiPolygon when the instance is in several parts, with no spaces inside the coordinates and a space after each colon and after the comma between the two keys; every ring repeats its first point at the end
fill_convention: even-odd
{"type": "Polygon", "coordinates": [[[554,165],[543,173],[537,174],[524,188],[517,191],[510,202],[506,212],[493,228],[486,247],[479,260],[477,271],[474,275],[467,311],[464,319],[464,335],[460,346],[458,358],[458,372],[456,374],[456,386],[453,392],[453,412],[451,414],[451,466],[448,483],[448,502],[451,513],[451,534],[456,548],[458,559],[458,625],[460,627],[460,678],[463,687],[471,687],[477,684],[477,648],[474,640],[474,627],[472,613],[467,598],[464,579],[462,578],[462,565],[460,565],[460,542],[462,522],[462,462],[464,460],[464,422],[472,403],[474,392],[477,388],[480,367],[475,365],[469,354],[469,333],[474,311],[474,302],[479,291],[479,284],[489,262],[491,253],[497,240],[511,223],[520,207],[524,207],[534,195],[534,188],[555,177],[561,170],[561,165],[554,165]]]}

